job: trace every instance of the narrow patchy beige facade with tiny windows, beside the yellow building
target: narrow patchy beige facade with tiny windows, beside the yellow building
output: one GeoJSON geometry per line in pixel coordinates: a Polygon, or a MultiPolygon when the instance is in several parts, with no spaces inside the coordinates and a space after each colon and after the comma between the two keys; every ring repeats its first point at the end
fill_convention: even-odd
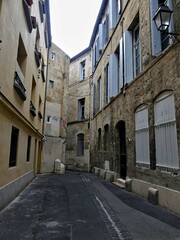
{"type": "Polygon", "coordinates": [[[54,43],[49,50],[41,172],[53,172],[54,161],[65,161],[70,58],[54,43]]]}

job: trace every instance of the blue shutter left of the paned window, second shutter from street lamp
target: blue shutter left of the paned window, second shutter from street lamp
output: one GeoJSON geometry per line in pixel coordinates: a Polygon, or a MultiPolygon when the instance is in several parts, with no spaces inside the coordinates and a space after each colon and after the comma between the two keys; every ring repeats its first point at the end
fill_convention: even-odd
{"type": "Polygon", "coordinates": [[[132,32],[124,33],[124,77],[125,84],[133,79],[133,47],[132,32]]]}

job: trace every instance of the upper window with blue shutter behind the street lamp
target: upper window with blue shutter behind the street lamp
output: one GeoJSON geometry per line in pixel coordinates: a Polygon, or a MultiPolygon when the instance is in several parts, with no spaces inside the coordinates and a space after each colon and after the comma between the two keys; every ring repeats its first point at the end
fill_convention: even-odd
{"type": "MultiPolygon", "coordinates": [[[[173,10],[172,0],[150,0],[151,40],[153,56],[159,55],[172,43],[172,39],[170,38],[170,36],[166,33],[158,31],[153,21],[153,17],[162,3],[164,3],[171,10],[173,10]]],[[[167,29],[167,32],[173,32],[173,30],[173,16],[171,16],[171,22],[169,28],[167,29]]]]}

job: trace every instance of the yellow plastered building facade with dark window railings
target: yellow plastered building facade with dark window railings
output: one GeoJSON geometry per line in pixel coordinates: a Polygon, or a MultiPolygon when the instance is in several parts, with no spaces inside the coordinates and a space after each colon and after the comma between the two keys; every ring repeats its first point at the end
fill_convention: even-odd
{"type": "Polygon", "coordinates": [[[37,173],[41,160],[49,1],[0,1],[0,208],[37,173]]]}

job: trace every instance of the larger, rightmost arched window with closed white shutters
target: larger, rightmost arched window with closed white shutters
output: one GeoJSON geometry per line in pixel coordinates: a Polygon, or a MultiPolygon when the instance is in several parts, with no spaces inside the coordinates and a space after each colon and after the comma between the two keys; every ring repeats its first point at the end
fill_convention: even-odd
{"type": "Polygon", "coordinates": [[[176,116],[172,92],[161,94],[154,104],[156,165],[179,169],[176,116]]]}

